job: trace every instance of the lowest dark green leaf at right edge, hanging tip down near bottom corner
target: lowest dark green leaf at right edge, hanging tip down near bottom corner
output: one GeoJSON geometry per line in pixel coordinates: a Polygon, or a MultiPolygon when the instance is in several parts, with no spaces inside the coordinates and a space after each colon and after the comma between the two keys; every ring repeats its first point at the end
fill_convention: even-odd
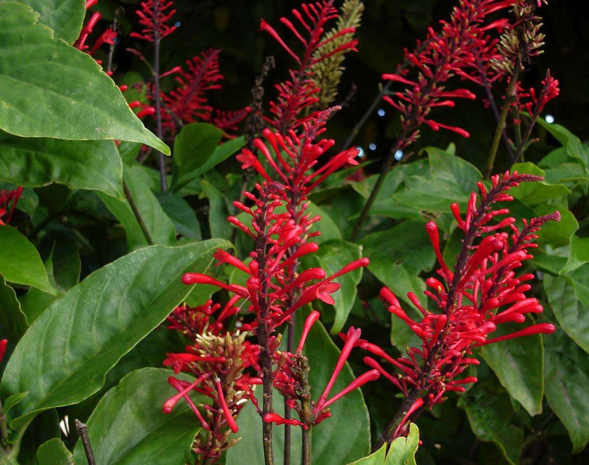
{"type": "Polygon", "coordinates": [[[589,441],[589,356],[562,331],[544,337],[546,400],[577,454],[589,441]]]}

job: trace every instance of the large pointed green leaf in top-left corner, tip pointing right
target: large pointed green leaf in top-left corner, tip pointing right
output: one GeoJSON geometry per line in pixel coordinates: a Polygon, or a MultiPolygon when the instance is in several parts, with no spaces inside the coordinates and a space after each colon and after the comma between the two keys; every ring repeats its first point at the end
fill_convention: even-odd
{"type": "Polygon", "coordinates": [[[37,20],[27,5],[0,4],[0,129],[21,137],[141,142],[170,154],[100,65],[37,20]]]}

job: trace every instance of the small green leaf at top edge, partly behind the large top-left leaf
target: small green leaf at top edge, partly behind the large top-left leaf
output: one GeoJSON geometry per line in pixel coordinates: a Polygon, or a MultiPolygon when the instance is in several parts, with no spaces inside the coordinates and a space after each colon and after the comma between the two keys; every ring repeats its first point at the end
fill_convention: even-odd
{"type": "Polygon", "coordinates": [[[55,37],[72,45],[80,35],[86,8],[84,0],[11,0],[30,6],[39,13],[39,23],[49,26],[55,37]]]}

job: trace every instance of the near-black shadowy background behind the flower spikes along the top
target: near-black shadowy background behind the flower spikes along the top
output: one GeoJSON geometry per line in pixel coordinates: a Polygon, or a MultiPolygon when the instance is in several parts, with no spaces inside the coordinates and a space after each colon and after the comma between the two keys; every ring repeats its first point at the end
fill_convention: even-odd
{"type": "MultiPolygon", "coordinates": [[[[349,94],[352,85],[356,85],[356,94],[348,108],[340,111],[329,125],[329,135],[340,144],[347,138],[350,129],[366,111],[370,102],[378,93],[380,75],[392,72],[403,58],[403,47],[415,47],[416,39],[425,37],[428,25],[438,29],[439,19],[447,19],[456,0],[367,0],[362,25],[357,31],[360,41],[359,52],[350,53],[345,60],[346,72],[339,86],[339,101],[349,94]]],[[[300,51],[299,43],[292,41],[292,34],[279,23],[280,16],[290,15],[290,10],[298,6],[298,1],[190,1],[176,0],[177,9],[174,20],[180,27],[174,34],[162,41],[162,69],[182,64],[187,58],[199,54],[207,48],[220,48],[221,72],[225,79],[223,90],[211,92],[214,107],[236,109],[249,104],[250,89],[253,79],[259,74],[266,55],[274,55],[276,69],[266,80],[266,98],[276,97],[272,84],[286,77],[288,67],[294,61],[266,33],[258,31],[260,18],[266,19],[277,29],[279,34],[300,51]]],[[[336,2],[339,6],[341,2],[336,2]]],[[[148,56],[149,44],[125,36],[131,31],[139,30],[134,10],[137,2],[118,2],[101,0],[97,8],[103,13],[104,27],[112,18],[115,8],[124,8],[121,16],[123,34],[120,47],[115,55],[118,66],[115,80],[131,69],[143,72],[148,79],[144,65],[125,51],[127,47],[142,49],[148,56]]],[[[545,114],[554,115],[555,122],[564,125],[582,140],[589,137],[587,120],[589,117],[589,70],[585,66],[589,55],[586,47],[589,39],[589,9],[581,0],[551,0],[550,5],[539,10],[544,18],[543,32],[546,35],[544,54],[534,60],[531,69],[524,76],[524,87],[538,88],[545,72],[550,68],[552,75],[560,81],[561,94],[550,102],[545,114]]],[[[163,88],[174,85],[173,78],[164,78],[163,88]]],[[[461,87],[454,81],[449,87],[461,87]]],[[[480,97],[481,88],[471,87],[480,97]]],[[[494,91],[496,98],[504,87],[499,83],[494,91]]],[[[338,103],[337,101],[336,103],[338,103]]],[[[378,159],[386,154],[398,126],[398,114],[383,102],[378,108],[386,111],[385,116],[371,115],[354,143],[364,148],[369,159],[378,159]],[[376,150],[368,150],[370,143],[376,144],[376,150]]],[[[482,166],[487,155],[495,120],[490,110],[483,108],[480,100],[459,100],[453,109],[436,110],[434,119],[449,125],[457,125],[471,132],[471,138],[464,140],[448,132],[433,132],[424,128],[422,138],[415,148],[426,145],[445,147],[449,142],[458,146],[457,154],[482,166]]],[[[147,123],[149,124],[149,123],[147,123]]],[[[531,160],[546,154],[551,148],[551,140],[544,131],[537,129],[542,140],[531,150],[531,160]]],[[[502,167],[505,157],[499,154],[498,167],[502,167]]],[[[378,170],[378,164],[369,170],[378,170]]]]}

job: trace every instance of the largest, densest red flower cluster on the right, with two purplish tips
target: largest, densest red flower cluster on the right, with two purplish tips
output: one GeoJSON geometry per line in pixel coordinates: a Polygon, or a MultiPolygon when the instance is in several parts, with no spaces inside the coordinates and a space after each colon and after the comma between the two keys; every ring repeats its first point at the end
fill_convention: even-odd
{"type": "MultiPolygon", "coordinates": [[[[415,294],[408,293],[409,300],[422,315],[421,321],[413,320],[388,288],[381,291],[381,296],[390,305],[389,311],[411,328],[422,340],[422,345],[409,348],[407,357],[398,358],[389,356],[368,341],[359,340],[356,345],[395,368],[396,373],[391,374],[374,358],[365,358],[368,366],[378,370],[405,397],[412,398],[415,410],[425,403],[430,407],[441,403],[447,391],[462,392],[465,390],[462,385],[477,381],[474,377],[456,379],[469,365],[479,363],[472,357],[475,347],[554,332],[552,324],[538,323],[515,333],[489,338],[489,334],[500,324],[524,323],[526,314],[542,311],[536,298],[525,295],[531,288],[527,281],[532,280],[534,275],[517,276],[515,270],[532,258],[528,249],[537,247],[532,241],[537,238],[535,233],[541,225],[560,220],[560,214],[555,212],[530,221],[524,220],[522,228],[518,229],[512,217],[493,222],[496,217],[508,215],[507,208],[492,209],[495,202],[513,200],[506,193],[510,188],[521,182],[540,180],[541,177],[517,172],[506,172],[502,177],[495,175],[491,178],[490,189],[479,182],[479,195],[475,192],[471,194],[464,217],[457,204],[451,205],[458,228],[464,231],[462,249],[453,270],[442,257],[437,225],[434,221],[426,224],[425,229],[440,266],[437,273],[441,280],[428,278],[426,284],[429,289],[424,293],[441,310],[440,313],[429,311],[415,294]],[[505,228],[509,228],[511,234],[504,231],[505,228]]],[[[344,338],[348,340],[349,336],[344,338]]],[[[402,433],[401,424],[395,434],[402,433]]]]}

